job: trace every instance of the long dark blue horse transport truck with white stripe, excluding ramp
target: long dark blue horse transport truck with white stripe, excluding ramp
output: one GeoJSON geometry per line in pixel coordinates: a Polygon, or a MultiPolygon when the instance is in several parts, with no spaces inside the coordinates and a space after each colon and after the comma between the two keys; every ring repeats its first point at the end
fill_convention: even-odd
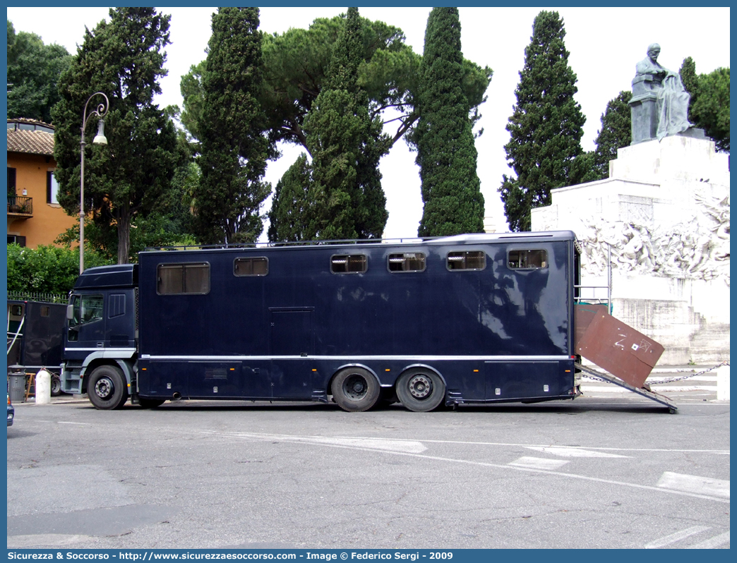
{"type": "Polygon", "coordinates": [[[63,391],[100,409],[573,399],[579,256],[571,231],[147,250],[77,279],[63,391]]]}

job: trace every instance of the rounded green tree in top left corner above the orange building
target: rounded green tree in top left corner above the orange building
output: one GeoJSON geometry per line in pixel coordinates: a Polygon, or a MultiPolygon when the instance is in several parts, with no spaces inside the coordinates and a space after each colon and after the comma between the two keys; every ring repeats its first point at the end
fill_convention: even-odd
{"type": "Polygon", "coordinates": [[[7,116],[51,123],[59,101],[57,81],[71,63],[69,52],[56,43],[44,45],[35,33],[15,33],[7,22],[7,116]]]}

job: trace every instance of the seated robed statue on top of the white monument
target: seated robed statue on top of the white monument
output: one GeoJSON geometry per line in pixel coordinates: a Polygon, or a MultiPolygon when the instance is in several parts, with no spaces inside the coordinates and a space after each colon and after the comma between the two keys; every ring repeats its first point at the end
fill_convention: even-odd
{"type": "Polygon", "coordinates": [[[694,127],[688,121],[688,102],[680,74],[657,62],[660,45],[648,46],[647,57],[635,65],[632,80],[632,144],[683,133],[694,127]]]}

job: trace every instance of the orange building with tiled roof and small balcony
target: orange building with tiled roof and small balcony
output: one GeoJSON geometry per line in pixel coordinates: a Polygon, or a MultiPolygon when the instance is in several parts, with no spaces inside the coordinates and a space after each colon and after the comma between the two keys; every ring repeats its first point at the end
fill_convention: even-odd
{"type": "Polygon", "coordinates": [[[7,243],[51,245],[79,223],[57,203],[54,127],[34,119],[7,120],[7,243]]]}

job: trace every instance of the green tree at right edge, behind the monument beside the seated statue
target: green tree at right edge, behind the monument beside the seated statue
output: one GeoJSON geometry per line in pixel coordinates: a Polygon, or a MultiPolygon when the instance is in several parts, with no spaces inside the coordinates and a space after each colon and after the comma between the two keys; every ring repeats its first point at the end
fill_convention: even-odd
{"type": "Polygon", "coordinates": [[[730,69],[699,74],[698,97],[691,104],[696,127],[705,130],[716,148],[730,152],[730,69]]]}

